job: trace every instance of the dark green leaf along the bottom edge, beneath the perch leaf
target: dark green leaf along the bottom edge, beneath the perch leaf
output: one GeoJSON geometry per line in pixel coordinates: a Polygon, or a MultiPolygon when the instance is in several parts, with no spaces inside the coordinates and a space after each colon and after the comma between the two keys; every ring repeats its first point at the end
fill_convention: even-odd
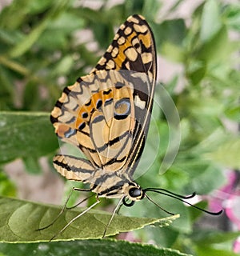
{"type": "MultiPolygon", "coordinates": [[[[14,245],[0,244],[0,250],[4,255],[10,256],[32,255],[33,252],[34,256],[190,256],[190,254],[182,254],[178,250],[108,239],[14,245]]],[[[2,255],[0,254],[0,256],[2,255]]]]}

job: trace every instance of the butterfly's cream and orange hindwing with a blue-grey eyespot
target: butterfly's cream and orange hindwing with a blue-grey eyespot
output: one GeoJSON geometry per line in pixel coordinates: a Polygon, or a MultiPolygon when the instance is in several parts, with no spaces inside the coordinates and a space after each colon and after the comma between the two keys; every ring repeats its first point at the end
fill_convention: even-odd
{"type": "Polygon", "coordinates": [[[132,146],[134,90],[128,83],[114,70],[82,77],[64,90],[51,114],[58,137],[106,171],[120,170],[132,146]]]}

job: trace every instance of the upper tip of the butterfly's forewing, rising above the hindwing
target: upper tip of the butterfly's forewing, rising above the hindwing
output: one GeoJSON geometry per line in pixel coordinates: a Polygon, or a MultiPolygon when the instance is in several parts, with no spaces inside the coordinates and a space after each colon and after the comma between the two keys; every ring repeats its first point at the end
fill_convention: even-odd
{"type": "Polygon", "coordinates": [[[156,50],[154,35],[141,15],[127,18],[114,36],[106,53],[100,58],[97,70],[133,70],[148,75],[150,82],[156,79],[156,50]]]}

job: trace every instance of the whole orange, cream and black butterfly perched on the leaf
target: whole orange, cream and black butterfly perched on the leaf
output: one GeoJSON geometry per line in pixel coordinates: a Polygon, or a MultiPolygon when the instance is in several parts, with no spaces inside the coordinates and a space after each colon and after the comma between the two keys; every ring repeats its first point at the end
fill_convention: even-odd
{"type": "Polygon", "coordinates": [[[102,197],[120,198],[118,206],[132,206],[142,198],[152,201],[148,191],[179,200],[194,196],[142,189],[133,179],[150,126],[156,55],[149,24],[141,15],[130,16],[90,74],[67,86],[51,112],[58,138],[77,146],[86,156],[58,154],[53,163],[67,179],[89,184],[97,202],[87,210],[102,197]]]}

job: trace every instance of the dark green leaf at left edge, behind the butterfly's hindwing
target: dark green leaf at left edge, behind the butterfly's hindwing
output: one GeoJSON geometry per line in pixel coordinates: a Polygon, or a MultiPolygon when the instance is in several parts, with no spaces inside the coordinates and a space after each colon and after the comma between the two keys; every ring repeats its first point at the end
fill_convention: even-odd
{"type": "Polygon", "coordinates": [[[57,148],[50,114],[0,112],[0,162],[39,157],[57,148]]]}

